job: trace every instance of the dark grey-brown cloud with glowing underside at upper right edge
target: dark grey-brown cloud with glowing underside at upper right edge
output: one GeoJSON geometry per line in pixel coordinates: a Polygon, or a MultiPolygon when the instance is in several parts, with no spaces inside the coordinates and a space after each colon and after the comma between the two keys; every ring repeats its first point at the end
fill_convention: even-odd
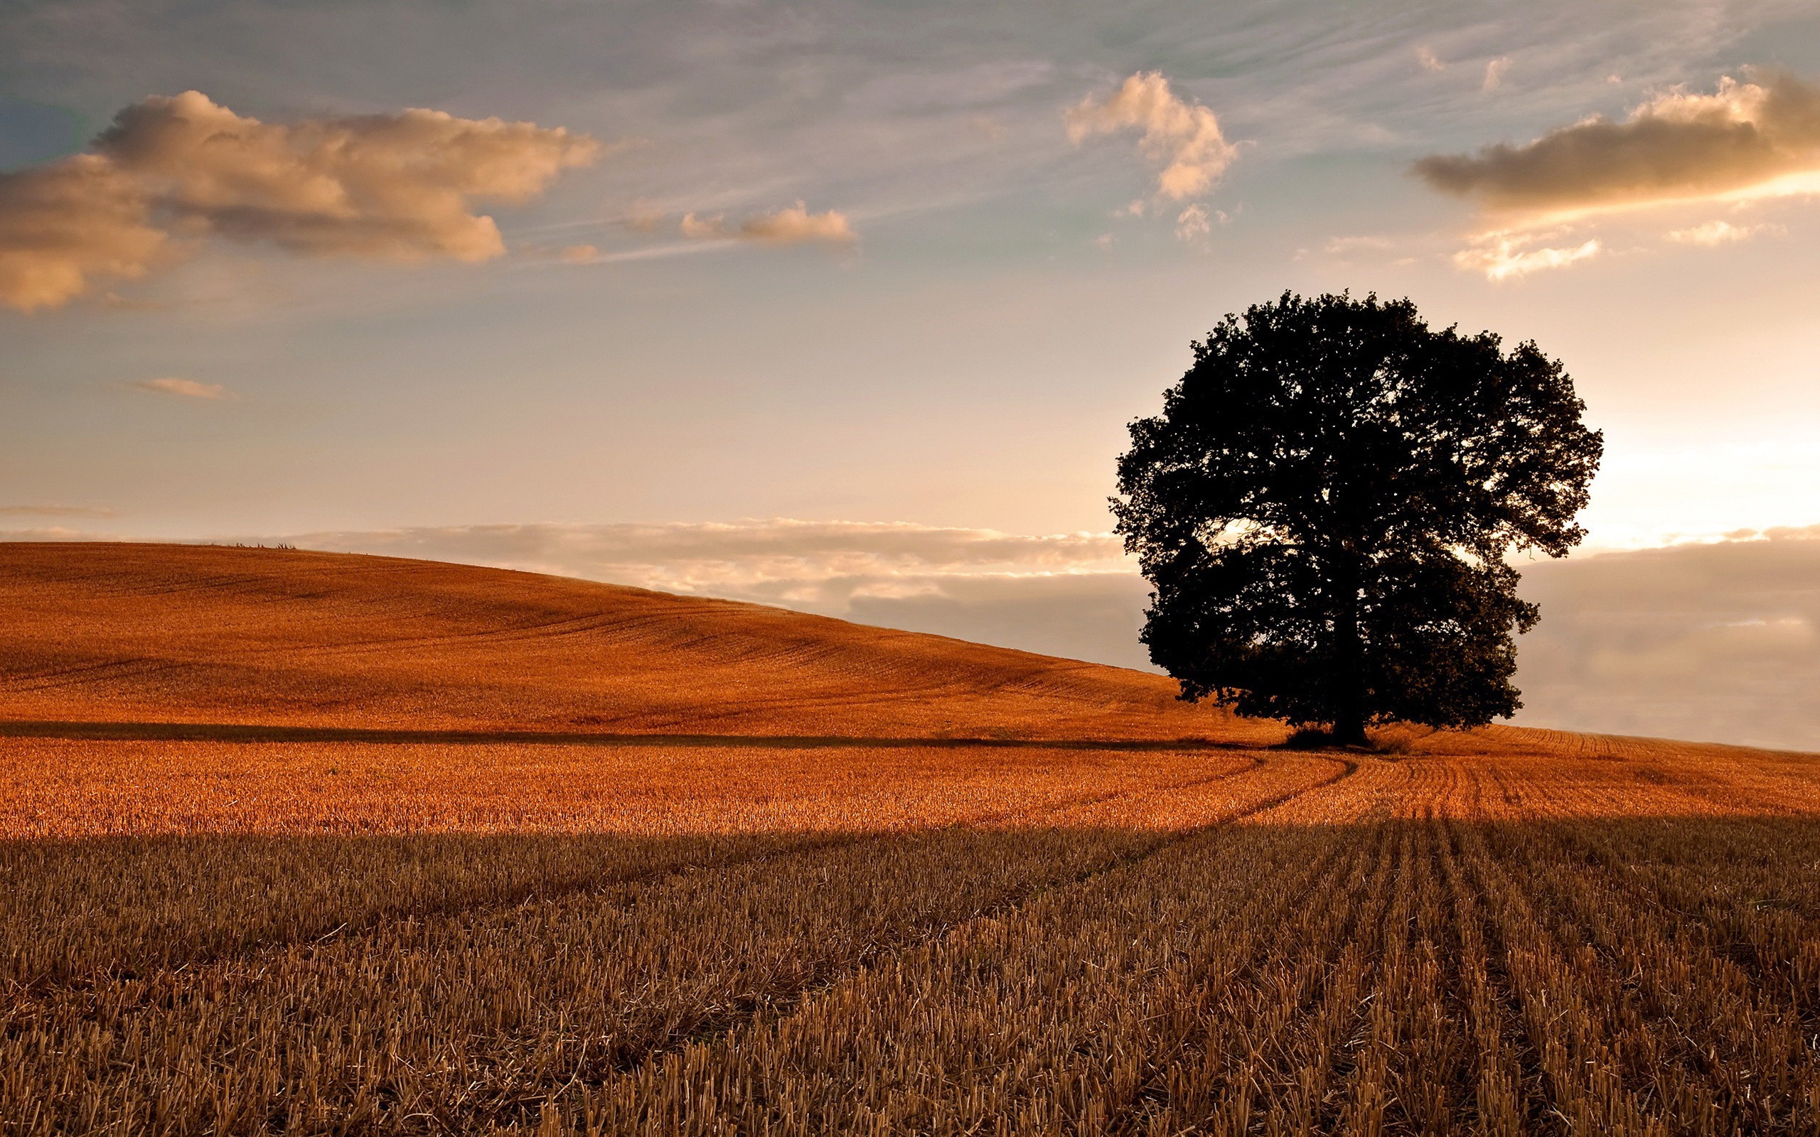
{"type": "Polygon", "coordinates": [[[1492,211],[1580,215],[1820,191],[1820,89],[1793,75],[1671,91],[1623,122],[1585,118],[1523,146],[1431,155],[1414,171],[1492,211]]]}

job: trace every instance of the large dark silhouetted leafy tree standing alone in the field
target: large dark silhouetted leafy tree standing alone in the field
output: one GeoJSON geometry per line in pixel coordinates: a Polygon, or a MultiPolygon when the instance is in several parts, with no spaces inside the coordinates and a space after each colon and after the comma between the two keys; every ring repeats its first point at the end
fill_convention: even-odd
{"type": "Polygon", "coordinates": [[[1150,659],[1185,700],[1347,744],[1514,713],[1512,628],[1540,611],[1503,558],[1585,537],[1603,438],[1583,409],[1532,342],[1431,331],[1409,300],[1228,315],[1119,458],[1150,659]]]}

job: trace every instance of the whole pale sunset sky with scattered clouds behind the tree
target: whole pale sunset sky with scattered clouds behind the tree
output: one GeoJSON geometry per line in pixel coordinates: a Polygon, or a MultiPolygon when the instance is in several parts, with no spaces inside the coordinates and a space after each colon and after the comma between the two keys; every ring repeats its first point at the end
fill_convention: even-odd
{"type": "Polygon", "coordinates": [[[1225,313],[1376,291],[1536,340],[1605,433],[1520,720],[1820,746],[1774,695],[1820,619],[1813,4],[13,0],[0,171],[13,537],[1141,664],[1125,424],[1225,313]],[[1742,688],[1636,679],[1711,651],[1742,688]]]}

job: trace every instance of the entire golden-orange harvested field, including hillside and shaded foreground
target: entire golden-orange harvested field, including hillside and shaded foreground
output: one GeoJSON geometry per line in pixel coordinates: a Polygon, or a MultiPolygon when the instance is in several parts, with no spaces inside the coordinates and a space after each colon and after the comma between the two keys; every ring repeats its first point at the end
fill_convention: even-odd
{"type": "Polygon", "coordinates": [[[0,1133],[1815,1133],[1820,759],[0,546],[0,1133]]]}

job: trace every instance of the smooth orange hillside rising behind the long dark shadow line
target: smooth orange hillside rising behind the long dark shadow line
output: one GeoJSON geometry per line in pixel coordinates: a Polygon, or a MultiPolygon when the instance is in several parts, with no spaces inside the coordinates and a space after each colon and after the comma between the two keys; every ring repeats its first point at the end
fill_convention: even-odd
{"type": "Polygon", "coordinates": [[[795,611],[295,549],[0,544],[0,719],[1274,742],[1174,682],[795,611]]]}

